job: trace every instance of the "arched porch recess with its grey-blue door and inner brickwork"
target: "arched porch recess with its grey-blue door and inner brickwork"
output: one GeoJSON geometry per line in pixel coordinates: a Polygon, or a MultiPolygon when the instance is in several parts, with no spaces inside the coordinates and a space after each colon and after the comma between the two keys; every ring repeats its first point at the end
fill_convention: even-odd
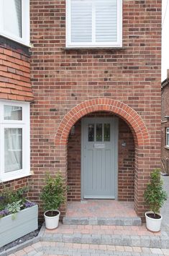
{"type": "Polygon", "coordinates": [[[68,137],[68,188],[68,201],[134,200],[134,137],[123,119],[102,111],[74,124],[68,137]]]}

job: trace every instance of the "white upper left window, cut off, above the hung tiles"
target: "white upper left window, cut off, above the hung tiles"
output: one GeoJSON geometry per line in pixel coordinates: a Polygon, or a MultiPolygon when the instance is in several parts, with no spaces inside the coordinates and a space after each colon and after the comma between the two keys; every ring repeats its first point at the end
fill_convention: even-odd
{"type": "Polygon", "coordinates": [[[0,34],[29,45],[29,0],[0,0],[0,34]]]}

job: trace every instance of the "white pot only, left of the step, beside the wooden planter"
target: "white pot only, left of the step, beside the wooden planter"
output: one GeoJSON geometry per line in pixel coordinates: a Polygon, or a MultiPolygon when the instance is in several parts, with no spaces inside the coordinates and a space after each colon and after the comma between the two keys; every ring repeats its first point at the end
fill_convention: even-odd
{"type": "Polygon", "coordinates": [[[45,226],[47,229],[56,229],[59,224],[60,211],[59,210],[47,210],[44,213],[45,217],[45,226]],[[47,213],[55,213],[55,216],[48,216],[47,213]]]}

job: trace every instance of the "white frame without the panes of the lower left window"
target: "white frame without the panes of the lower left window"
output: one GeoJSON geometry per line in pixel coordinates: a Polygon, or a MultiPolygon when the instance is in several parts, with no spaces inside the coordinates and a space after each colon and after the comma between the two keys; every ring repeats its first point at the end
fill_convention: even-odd
{"type": "Polygon", "coordinates": [[[20,101],[0,101],[0,182],[19,179],[30,175],[30,124],[29,103],[20,101]],[[4,106],[22,107],[22,120],[4,120],[4,106]],[[22,128],[22,169],[4,172],[4,129],[22,128]]]}

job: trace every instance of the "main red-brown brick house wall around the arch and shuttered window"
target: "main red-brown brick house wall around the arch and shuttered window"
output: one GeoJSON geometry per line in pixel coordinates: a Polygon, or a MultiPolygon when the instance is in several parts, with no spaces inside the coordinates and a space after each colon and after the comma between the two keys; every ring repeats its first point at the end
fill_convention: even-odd
{"type": "MultiPolygon", "coordinates": [[[[123,48],[120,50],[66,50],[65,1],[30,0],[30,4],[31,77],[35,95],[31,110],[32,170],[36,182],[45,171],[53,174],[60,170],[67,179],[65,142],[73,124],[71,112],[68,124],[64,119],[67,130],[63,131],[61,123],[57,140],[55,135],[68,111],[91,99],[113,99],[116,107],[105,105],[104,101],[105,108],[102,103],[98,104],[105,111],[114,108],[126,117],[132,108],[142,119],[138,121],[131,113],[127,117],[129,122],[135,122],[135,135],[140,142],[135,148],[134,204],[137,213],[143,216],[142,195],[150,171],[160,166],[161,1],[123,1],[123,48]],[[122,110],[117,101],[126,104],[122,110]],[[142,133],[146,133],[145,140],[140,136],[142,133]],[[61,134],[64,140],[60,142],[61,134]]],[[[93,109],[88,106],[88,111],[93,109]]],[[[78,108],[76,111],[79,119],[86,114],[78,108]]],[[[37,197],[40,186],[38,183],[37,197]]]]}

